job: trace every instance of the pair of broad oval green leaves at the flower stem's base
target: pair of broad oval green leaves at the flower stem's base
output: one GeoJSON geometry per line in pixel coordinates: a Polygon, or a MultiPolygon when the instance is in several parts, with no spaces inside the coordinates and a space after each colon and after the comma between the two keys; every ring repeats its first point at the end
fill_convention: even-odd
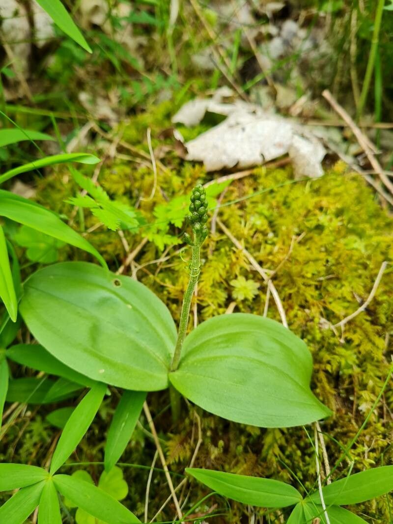
{"type": "Polygon", "coordinates": [[[136,391],[171,384],[211,413],[260,427],[307,424],[330,413],[310,390],[307,346],[261,316],[203,322],[171,372],[172,316],[132,278],[89,263],[48,266],[25,282],[20,312],[53,357],[94,381],[136,391]]]}

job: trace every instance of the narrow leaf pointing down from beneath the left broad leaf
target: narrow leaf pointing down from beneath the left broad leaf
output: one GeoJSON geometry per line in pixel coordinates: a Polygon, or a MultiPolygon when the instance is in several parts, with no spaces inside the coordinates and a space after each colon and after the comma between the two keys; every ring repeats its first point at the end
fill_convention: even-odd
{"type": "Polygon", "coordinates": [[[105,446],[105,470],[112,470],[122,456],[138,422],[145,391],[124,391],[117,405],[105,446]]]}

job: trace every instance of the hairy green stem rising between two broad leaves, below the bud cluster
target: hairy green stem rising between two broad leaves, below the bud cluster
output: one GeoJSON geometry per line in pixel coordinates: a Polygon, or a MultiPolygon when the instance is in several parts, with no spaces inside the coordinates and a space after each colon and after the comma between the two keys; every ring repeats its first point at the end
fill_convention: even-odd
{"type": "Polygon", "coordinates": [[[192,259],[190,264],[190,280],[188,282],[187,289],[185,290],[183,297],[183,305],[181,308],[180,324],[178,332],[178,340],[176,341],[176,347],[174,348],[174,355],[171,364],[171,371],[176,371],[179,367],[181,348],[187,332],[187,324],[190,316],[191,300],[195,291],[196,283],[198,282],[200,267],[201,267],[201,243],[195,235],[195,241],[192,246],[192,259]]]}

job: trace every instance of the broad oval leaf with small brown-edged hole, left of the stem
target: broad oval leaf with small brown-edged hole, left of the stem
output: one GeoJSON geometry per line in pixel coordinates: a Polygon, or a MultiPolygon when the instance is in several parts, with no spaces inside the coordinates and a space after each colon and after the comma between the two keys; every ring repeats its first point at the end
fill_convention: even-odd
{"type": "Polygon", "coordinates": [[[79,373],[124,389],[168,386],[176,328],[132,278],[88,263],[49,266],[25,282],[20,311],[36,339],[79,373]]]}

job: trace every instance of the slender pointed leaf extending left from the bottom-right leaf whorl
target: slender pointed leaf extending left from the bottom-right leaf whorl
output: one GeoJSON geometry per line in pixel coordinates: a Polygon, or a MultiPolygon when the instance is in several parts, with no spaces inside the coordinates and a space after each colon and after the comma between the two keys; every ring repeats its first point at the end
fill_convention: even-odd
{"type": "Polygon", "coordinates": [[[299,503],[296,488],[272,478],[248,477],[223,471],[186,468],[186,473],[224,497],[263,508],[285,508],[299,503]]]}

